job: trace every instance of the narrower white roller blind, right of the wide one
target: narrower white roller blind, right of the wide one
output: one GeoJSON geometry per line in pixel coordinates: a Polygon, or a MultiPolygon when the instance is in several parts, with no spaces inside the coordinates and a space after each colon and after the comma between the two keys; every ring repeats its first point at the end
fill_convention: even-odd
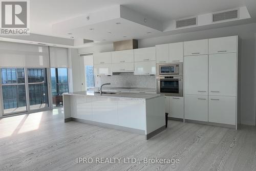
{"type": "Polygon", "coordinates": [[[67,48],[50,47],[51,68],[68,68],[67,48]]]}

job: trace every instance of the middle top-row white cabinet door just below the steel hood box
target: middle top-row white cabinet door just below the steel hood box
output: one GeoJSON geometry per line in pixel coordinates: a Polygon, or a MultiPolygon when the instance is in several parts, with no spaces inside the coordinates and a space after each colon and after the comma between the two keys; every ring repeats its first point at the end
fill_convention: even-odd
{"type": "Polygon", "coordinates": [[[112,52],[112,63],[134,62],[134,50],[112,52]]]}

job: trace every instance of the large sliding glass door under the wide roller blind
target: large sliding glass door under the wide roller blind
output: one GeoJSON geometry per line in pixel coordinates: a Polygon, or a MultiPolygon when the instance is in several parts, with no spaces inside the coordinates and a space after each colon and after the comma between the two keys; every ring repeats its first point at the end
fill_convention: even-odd
{"type": "Polygon", "coordinates": [[[4,115],[49,108],[46,68],[1,68],[4,115]]]}

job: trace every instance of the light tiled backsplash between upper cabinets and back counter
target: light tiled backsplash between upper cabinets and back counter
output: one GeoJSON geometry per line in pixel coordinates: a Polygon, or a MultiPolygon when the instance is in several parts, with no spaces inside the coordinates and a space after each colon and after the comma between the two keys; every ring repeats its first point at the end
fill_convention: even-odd
{"type": "Polygon", "coordinates": [[[107,82],[111,83],[109,87],[156,88],[155,75],[134,75],[134,73],[120,73],[119,75],[96,77],[96,87],[100,87],[100,84],[107,82]]]}

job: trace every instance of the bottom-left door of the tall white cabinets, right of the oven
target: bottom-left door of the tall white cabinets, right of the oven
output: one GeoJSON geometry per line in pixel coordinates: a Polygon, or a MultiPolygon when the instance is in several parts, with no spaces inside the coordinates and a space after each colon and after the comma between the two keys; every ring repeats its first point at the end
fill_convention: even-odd
{"type": "Polygon", "coordinates": [[[208,122],[208,96],[185,95],[185,119],[208,122]]]}

